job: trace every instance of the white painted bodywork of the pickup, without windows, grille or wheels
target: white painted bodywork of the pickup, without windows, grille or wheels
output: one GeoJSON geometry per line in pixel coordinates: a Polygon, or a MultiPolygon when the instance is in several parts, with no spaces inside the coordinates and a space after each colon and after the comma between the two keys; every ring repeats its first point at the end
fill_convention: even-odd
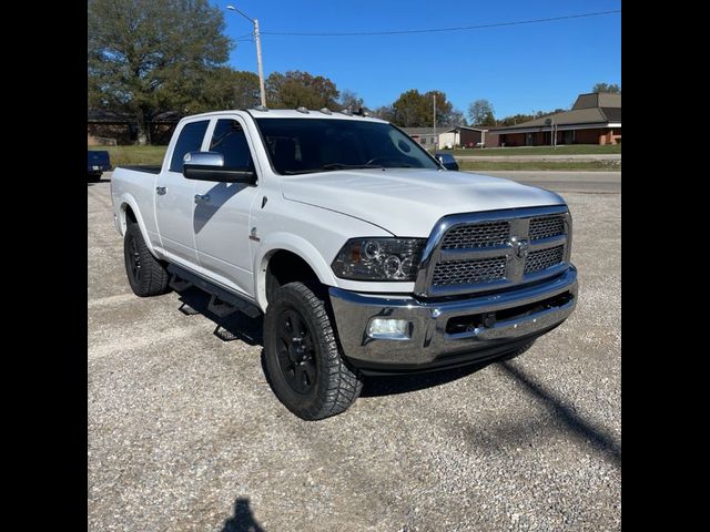
{"type": "Polygon", "coordinates": [[[265,310],[264,275],[278,249],[303,258],[327,285],[346,290],[412,294],[414,283],[338,278],[331,264],[354,237],[429,236],[445,215],[501,208],[560,205],[557,194],[508,180],[445,170],[385,168],[280,175],[271,166],[253,117],[302,120],[377,119],[297,111],[223,111],[183,119],[170,142],[160,174],[116,168],[111,183],[116,227],[125,231],[125,208],[134,213],[153,254],[241,294],[265,310]],[[186,180],[170,171],[182,127],[210,120],[201,151],[207,151],[219,119],[244,127],[256,186],[186,180]],[[158,187],[165,187],[158,195],[158,187]],[[209,194],[210,206],[194,202],[209,194]],[[265,204],[262,206],[264,198],[265,204]],[[254,232],[254,233],[252,233],[254,232]],[[257,239],[251,239],[250,235],[257,239]]]}

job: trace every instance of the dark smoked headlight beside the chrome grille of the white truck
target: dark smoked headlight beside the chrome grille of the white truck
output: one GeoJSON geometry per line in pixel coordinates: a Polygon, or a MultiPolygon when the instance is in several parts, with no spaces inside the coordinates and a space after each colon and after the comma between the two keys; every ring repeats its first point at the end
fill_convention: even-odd
{"type": "Polygon", "coordinates": [[[333,260],[335,275],[356,280],[415,280],[426,238],[352,238],[333,260]]]}

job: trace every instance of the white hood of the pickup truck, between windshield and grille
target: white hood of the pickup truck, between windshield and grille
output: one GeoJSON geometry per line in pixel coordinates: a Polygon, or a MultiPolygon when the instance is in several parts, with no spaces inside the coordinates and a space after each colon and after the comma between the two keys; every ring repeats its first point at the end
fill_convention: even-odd
{"type": "Polygon", "coordinates": [[[287,200],[364,219],[395,236],[427,237],[448,214],[565,204],[542,188],[452,171],[335,171],[284,176],[281,183],[287,200]]]}

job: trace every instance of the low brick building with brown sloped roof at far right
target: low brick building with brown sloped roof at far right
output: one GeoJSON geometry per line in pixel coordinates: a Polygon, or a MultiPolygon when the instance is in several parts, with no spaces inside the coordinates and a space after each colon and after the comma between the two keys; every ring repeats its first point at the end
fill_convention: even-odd
{"type": "Polygon", "coordinates": [[[559,144],[620,144],[621,94],[580,94],[570,111],[507,127],[490,127],[487,147],[559,144]]]}

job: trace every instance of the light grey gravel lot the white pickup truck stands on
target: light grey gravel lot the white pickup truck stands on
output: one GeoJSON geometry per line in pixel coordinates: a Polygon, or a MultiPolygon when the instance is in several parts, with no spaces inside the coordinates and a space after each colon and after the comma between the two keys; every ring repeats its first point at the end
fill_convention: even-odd
{"type": "Polygon", "coordinates": [[[134,297],[109,183],[89,185],[90,531],[620,529],[619,194],[564,193],[577,310],[525,355],[372,379],[344,415],[292,416],[260,321],[134,297]]]}

